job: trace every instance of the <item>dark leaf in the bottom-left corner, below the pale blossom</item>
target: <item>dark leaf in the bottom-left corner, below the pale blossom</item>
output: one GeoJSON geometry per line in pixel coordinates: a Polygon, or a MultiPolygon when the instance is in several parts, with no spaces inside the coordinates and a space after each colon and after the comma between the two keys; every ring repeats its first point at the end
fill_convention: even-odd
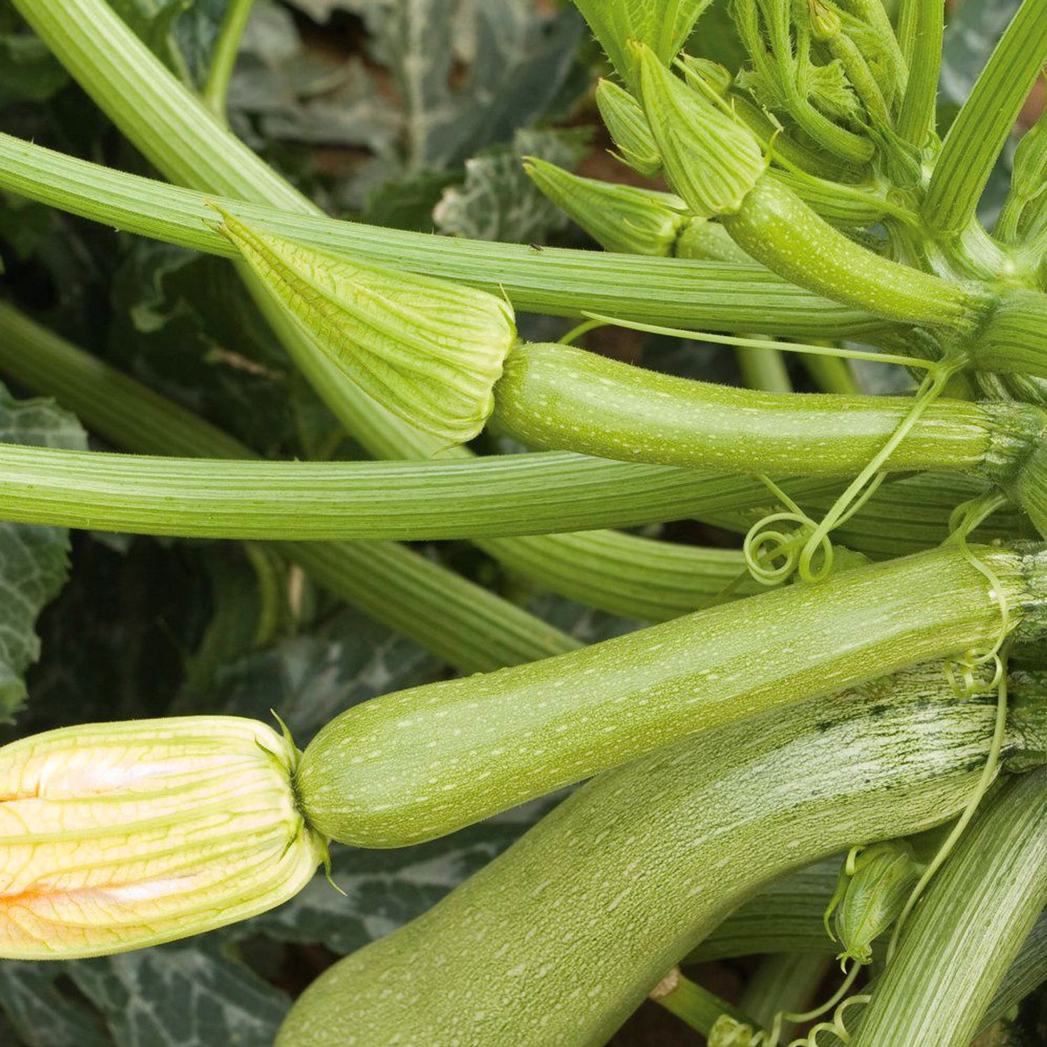
{"type": "MultiPolygon", "coordinates": [[[[63,964],[0,962],[0,1007],[24,1047],[112,1047],[98,1017],[83,999],[64,992],[63,964]]],[[[2,1039],[0,1043],[8,1044],[2,1039]]]]}

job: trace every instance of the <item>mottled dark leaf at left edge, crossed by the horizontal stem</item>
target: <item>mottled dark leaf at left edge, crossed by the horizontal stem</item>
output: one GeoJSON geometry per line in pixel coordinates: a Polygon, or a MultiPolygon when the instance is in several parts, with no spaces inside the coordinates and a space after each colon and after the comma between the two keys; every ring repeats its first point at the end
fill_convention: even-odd
{"type": "MultiPolygon", "coordinates": [[[[49,400],[16,401],[0,385],[0,442],[83,450],[80,423],[49,400]]],[[[0,720],[26,696],[23,673],[40,656],[37,616],[68,578],[69,535],[60,528],[0,522],[0,720]]]]}

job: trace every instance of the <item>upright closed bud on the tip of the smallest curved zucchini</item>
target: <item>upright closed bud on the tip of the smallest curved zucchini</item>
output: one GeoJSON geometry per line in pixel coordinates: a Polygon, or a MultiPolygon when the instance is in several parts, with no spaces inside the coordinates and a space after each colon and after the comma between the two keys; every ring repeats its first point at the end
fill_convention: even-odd
{"type": "Polygon", "coordinates": [[[753,133],[689,88],[648,47],[640,60],[641,99],[672,187],[696,215],[732,214],[766,170],[753,133]]]}

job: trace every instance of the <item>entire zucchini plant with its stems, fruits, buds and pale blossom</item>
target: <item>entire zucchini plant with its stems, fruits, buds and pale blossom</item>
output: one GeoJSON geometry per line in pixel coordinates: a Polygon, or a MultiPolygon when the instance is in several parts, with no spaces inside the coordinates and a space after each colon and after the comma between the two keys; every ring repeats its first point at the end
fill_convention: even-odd
{"type": "MultiPolygon", "coordinates": [[[[0,442],[3,526],[244,543],[257,628],[233,636],[238,591],[201,643],[229,664],[195,681],[235,676],[332,600],[461,675],[307,693],[303,732],[281,701],[294,730],[253,718],[262,695],[247,716],[207,698],[192,715],[183,695],[159,718],[92,699],[89,727],[29,721],[0,747],[0,956],[220,929],[229,953],[232,925],[264,934],[268,910],[327,891],[318,867],[343,890],[339,863],[426,853],[580,785],[320,973],[277,1044],[580,1047],[649,996],[711,1047],[965,1047],[1047,979],[1047,117],[1008,146],[1047,63],[1047,0],[1001,27],[951,122],[939,0],[573,6],[557,24],[584,19],[599,45],[582,105],[617,173],[527,155],[513,177],[604,250],[329,217],[227,119],[249,0],[225,5],[195,80],[184,54],[163,60],[173,23],[150,36],[107,0],[10,0],[36,34],[17,39],[154,170],[13,124],[3,201],[86,219],[114,251],[206,257],[241,310],[227,330],[272,365],[221,344],[208,360],[286,378],[296,433],[260,452],[190,409],[206,376],[186,406],[112,347],[74,344],[31,315],[19,270],[0,373],[109,446],[0,442]],[[749,387],[611,358],[612,330],[733,347],[749,387]],[[398,544],[447,541],[477,553],[398,544]],[[532,588],[631,621],[579,639],[524,605],[532,588]],[[768,927],[782,883],[803,905],[768,927]],[[691,970],[772,952],[788,955],[737,1000],[691,970]],[[797,1007],[830,953],[834,992],[797,1007]]],[[[451,18],[378,7],[369,26],[451,18]]],[[[418,61],[393,82],[439,113],[447,85],[418,61]]],[[[407,195],[431,192],[406,174],[407,195]]],[[[203,309],[213,289],[185,283],[203,309]]],[[[133,312],[148,328],[186,308],[133,312]]],[[[349,904],[328,903],[332,923],[349,904]]]]}

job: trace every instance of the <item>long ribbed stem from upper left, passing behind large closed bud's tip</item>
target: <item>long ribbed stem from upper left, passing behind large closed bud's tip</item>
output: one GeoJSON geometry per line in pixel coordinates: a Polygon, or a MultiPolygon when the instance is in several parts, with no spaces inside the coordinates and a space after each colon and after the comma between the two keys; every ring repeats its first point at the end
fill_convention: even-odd
{"type": "MultiPolygon", "coordinates": [[[[209,119],[209,117],[207,117],[209,119]]],[[[211,226],[210,203],[251,226],[302,243],[505,293],[520,310],[580,316],[586,310],[707,330],[783,336],[862,337],[884,321],[775,276],[761,266],[640,259],[597,251],[487,243],[383,229],[298,213],[285,200],[243,203],[111,171],[0,134],[0,187],[93,221],[226,258],[233,245],[211,226]]]]}

